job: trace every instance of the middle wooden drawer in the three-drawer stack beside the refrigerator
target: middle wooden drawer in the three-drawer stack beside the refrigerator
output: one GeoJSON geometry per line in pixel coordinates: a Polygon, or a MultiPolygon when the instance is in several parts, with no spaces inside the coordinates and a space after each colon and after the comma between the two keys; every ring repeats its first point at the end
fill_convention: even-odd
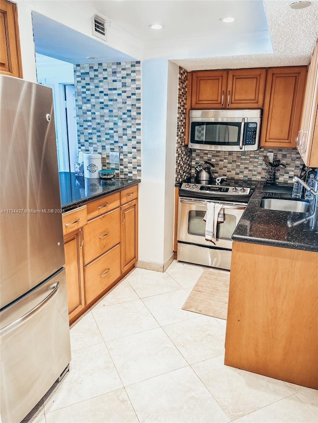
{"type": "Polygon", "coordinates": [[[120,208],[88,222],[83,228],[84,264],[120,242],[120,208]]]}

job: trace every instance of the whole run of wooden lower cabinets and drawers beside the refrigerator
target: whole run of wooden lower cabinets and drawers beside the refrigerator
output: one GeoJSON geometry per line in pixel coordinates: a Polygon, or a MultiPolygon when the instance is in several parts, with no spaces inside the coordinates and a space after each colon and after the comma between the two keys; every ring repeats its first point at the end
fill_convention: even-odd
{"type": "Polygon", "coordinates": [[[138,185],[89,201],[62,219],[73,323],[138,259],[138,185]]]}

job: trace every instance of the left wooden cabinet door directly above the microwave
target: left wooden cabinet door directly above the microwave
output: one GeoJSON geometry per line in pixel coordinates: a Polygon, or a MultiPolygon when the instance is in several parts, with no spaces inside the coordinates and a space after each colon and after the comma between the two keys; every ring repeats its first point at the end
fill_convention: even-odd
{"type": "Polygon", "coordinates": [[[198,71],[192,74],[192,109],[225,107],[227,71],[198,71]]]}

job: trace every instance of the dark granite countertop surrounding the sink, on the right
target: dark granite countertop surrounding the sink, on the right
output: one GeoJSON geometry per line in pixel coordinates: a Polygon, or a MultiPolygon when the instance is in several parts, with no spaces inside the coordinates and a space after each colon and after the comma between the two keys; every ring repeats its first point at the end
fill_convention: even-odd
{"type": "Polygon", "coordinates": [[[287,222],[298,222],[311,213],[268,210],[260,207],[261,199],[265,196],[292,198],[292,188],[292,184],[277,187],[260,182],[232,235],[233,241],[318,251],[318,216],[316,219],[288,227],[287,222]]]}

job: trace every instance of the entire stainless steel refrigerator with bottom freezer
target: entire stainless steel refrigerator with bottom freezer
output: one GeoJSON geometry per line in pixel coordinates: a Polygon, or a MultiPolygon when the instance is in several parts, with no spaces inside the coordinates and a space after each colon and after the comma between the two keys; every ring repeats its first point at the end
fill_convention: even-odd
{"type": "Polygon", "coordinates": [[[52,90],[0,75],[1,422],[20,422],[71,360],[52,90]]]}

